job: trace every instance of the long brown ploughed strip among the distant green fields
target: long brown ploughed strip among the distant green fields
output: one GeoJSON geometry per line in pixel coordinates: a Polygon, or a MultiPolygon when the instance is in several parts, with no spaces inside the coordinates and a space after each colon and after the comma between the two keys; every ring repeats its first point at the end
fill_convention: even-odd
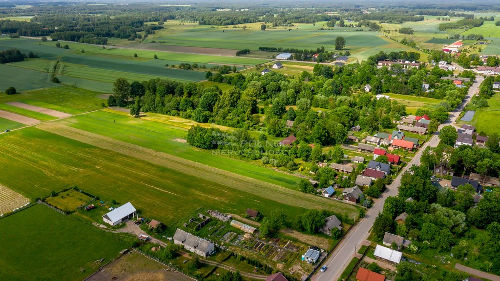
{"type": "Polygon", "coordinates": [[[172,46],[163,45],[160,43],[147,43],[147,44],[129,44],[126,46],[119,46],[121,48],[138,48],[145,50],[159,50],[159,51],[172,51],[172,52],[185,52],[195,54],[212,54],[212,55],[231,55],[236,54],[235,49],[219,49],[219,48],[204,48],[204,47],[189,47],[189,46],[172,46]]]}

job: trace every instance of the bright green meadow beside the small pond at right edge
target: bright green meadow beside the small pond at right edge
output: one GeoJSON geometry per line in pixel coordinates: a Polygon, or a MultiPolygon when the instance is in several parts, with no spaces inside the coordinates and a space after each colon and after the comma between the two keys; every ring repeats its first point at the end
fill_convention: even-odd
{"type": "Polygon", "coordinates": [[[500,134],[500,126],[496,125],[495,120],[500,117],[500,93],[495,93],[488,99],[488,107],[480,108],[475,111],[471,123],[475,125],[476,131],[484,131],[486,134],[500,134]],[[493,123],[492,123],[493,122],[493,123]]]}

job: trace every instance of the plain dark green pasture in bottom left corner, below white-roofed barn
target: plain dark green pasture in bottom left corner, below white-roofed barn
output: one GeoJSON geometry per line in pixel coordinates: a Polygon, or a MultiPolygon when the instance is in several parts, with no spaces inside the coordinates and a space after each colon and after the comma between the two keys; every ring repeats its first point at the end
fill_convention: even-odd
{"type": "Polygon", "coordinates": [[[2,281],[82,280],[127,245],[117,234],[88,226],[47,206],[0,219],[2,281]]]}

